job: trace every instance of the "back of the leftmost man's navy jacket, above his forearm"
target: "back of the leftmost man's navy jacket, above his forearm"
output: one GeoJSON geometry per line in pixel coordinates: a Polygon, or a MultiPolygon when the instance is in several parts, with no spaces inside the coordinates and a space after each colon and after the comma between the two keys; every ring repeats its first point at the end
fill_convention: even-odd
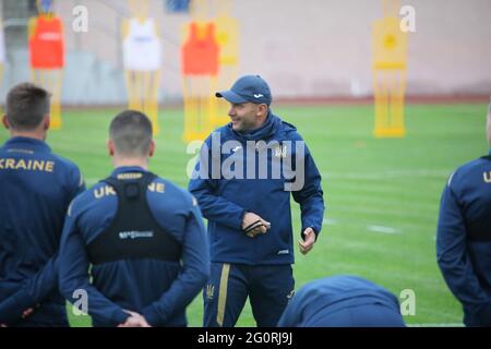
{"type": "Polygon", "coordinates": [[[5,142],[0,148],[2,284],[32,277],[56,253],[67,207],[83,189],[77,167],[45,142],[19,136],[5,142]]]}

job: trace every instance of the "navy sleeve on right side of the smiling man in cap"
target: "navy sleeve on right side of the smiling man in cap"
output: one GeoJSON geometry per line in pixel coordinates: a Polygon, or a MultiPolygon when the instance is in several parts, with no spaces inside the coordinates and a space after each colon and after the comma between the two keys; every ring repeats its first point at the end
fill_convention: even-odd
{"type": "MultiPolygon", "coordinates": [[[[297,134],[295,141],[302,141],[302,139],[297,134]]],[[[298,191],[292,191],[291,194],[294,200],[300,204],[302,231],[311,227],[315,231],[315,234],[319,236],[322,229],[325,209],[321,186],[322,178],[307,145],[304,145],[303,168],[303,186],[298,191]]],[[[299,173],[298,169],[297,173],[299,173]]]]}

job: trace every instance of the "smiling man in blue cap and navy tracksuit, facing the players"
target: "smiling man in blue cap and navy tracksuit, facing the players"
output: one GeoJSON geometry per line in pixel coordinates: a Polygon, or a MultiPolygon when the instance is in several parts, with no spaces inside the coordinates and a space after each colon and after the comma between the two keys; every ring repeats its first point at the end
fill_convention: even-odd
{"type": "Polygon", "coordinates": [[[189,184],[208,219],[204,326],[233,326],[248,296],[258,325],[275,326],[295,288],[290,192],[308,253],[322,227],[321,176],[295,127],[271,111],[263,79],[242,76],[217,97],[231,122],[205,141],[189,184]]]}

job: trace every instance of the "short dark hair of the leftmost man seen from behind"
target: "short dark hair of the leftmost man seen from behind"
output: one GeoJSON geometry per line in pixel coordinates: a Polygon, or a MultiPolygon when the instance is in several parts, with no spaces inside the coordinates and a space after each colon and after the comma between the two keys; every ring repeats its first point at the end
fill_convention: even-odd
{"type": "Polygon", "coordinates": [[[49,115],[51,94],[32,83],[21,83],[7,95],[7,119],[14,130],[32,131],[49,115]]]}

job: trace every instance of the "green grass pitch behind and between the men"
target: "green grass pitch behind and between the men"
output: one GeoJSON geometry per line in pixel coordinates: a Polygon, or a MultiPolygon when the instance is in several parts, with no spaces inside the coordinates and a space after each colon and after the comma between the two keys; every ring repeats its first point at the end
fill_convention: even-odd
{"type": "MultiPolygon", "coordinates": [[[[486,154],[484,105],[415,105],[406,107],[407,135],[376,140],[372,106],[277,107],[296,124],[323,176],[325,224],[314,250],[296,254],[296,288],[336,274],[366,277],[399,294],[416,293],[416,315],[408,324],[459,324],[462,310],[436,266],[435,227],[440,194],[459,165],[486,154]]],[[[118,112],[68,110],[63,129],[51,131],[53,151],[75,161],[87,185],[111,171],[105,141],[118,112]]],[[[151,170],[185,186],[193,155],[182,142],[182,110],[161,110],[161,133],[151,170]]],[[[0,131],[0,141],[8,137],[0,131]]],[[[292,205],[295,233],[299,209],[292,205]]],[[[279,213],[278,213],[279,214],[279,213]]],[[[88,316],[69,314],[73,326],[88,316]]],[[[201,326],[201,294],[188,308],[190,326],[201,326]]],[[[249,305],[238,326],[254,326],[249,305]]]]}

